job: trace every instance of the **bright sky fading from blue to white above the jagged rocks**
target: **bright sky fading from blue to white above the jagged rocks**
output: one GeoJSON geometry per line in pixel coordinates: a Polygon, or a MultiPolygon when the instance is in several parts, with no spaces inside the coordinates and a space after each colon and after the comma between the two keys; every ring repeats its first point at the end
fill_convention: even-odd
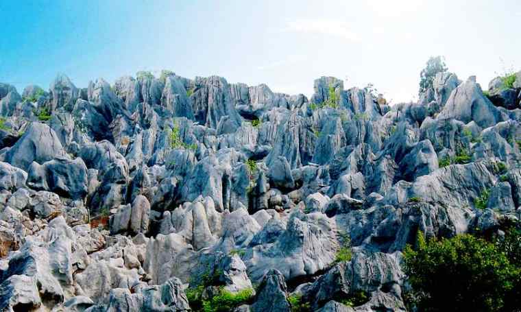
{"type": "Polygon", "coordinates": [[[313,93],[322,75],[372,82],[393,102],[417,93],[429,56],[486,88],[521,69],[521,1],[0,0],[0,82],[76,86],[136,71],[221,75],[313,93]]]}

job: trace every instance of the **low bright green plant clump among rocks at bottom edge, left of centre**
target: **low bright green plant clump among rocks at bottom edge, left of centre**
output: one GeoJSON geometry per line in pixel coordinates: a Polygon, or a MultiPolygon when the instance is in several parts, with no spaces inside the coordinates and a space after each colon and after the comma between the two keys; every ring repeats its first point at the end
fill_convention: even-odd
{"type": "MultiPolygon", "coordinates": [[[[248,303],[254,296],[253,289],[243,289],[237,293],[232,293],[226,289],[219,289],[217,296],[210,300],[202,300],[202,311],[204,312],[228,312],[242,304],[248,303]]],[[[196,310],[197,311],[197,310],[196,310]]]]}

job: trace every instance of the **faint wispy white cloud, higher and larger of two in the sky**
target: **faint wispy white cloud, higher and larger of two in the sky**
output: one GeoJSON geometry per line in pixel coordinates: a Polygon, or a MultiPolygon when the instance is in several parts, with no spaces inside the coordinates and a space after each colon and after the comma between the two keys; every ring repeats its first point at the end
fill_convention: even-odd
{"type": "Polygon", "coordinates": [[[360,41],[348,23],[335,19],[298,19],[289,21],[284,30],[306,34],[322,34],[336,36],[350,41],[360,41]]]}

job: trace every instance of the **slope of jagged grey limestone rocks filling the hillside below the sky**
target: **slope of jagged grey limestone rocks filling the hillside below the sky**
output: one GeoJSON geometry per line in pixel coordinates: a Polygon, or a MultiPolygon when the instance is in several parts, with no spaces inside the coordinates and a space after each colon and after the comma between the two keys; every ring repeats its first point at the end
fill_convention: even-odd
{"type": "Polygon", "coordinates": [[[520,217],[520,91],[521,72],[488,96],[439,73],[395,106],[334,77],[311,99],[167,72],[0,84],[0,309],[189,311],[191,289],[254,289],[237,311],[406,311],[418,231],[520,217]]]}

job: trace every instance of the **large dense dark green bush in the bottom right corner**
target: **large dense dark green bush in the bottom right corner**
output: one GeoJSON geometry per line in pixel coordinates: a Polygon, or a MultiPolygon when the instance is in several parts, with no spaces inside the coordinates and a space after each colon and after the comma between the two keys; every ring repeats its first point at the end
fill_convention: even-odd
{"type": "Polygon", "coordinates": [[[411,311],[519,311],[510,298],[516,298],[520,268],[500,245],[484,239],[458,235],[426,242],[418,232],[415,250],[404,250],[404,271],[413,289],[406,296],[411,311]]]}

